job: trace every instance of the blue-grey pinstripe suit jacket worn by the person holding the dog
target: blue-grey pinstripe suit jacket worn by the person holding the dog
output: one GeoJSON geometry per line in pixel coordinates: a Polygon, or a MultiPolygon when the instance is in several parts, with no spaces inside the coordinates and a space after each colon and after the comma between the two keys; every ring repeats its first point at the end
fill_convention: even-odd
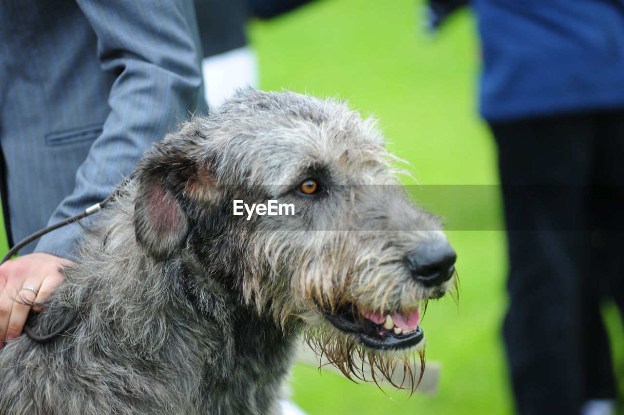
{"type": "MultiPolygon", "coordinates": [[[[202,105],[198,50],[192,0],[0,2],[2,179],[14,241],[104,199],[202,105]]],[[[64,227],[21,253],[72,257],[79,237],[78,226],[64,227]]]]}

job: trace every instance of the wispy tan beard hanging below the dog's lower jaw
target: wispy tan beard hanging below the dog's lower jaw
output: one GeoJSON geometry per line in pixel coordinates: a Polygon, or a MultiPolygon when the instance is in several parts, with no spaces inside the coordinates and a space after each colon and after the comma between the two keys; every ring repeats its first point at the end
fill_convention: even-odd
{"type": "MultiPolygon", "coordinates": [[[[384,381],[396,389],[409,391],[412,396],[421,383],[425,370],[424,347],[417,348],[420,371],[416,368],[416,354],[406,351],[379,351],[363,346],[356,335],[346,335],[328,324],[308,326],[303,333],[306,343],[319,356],[321,366],[334,365],[351,381],[374,382],[383,391],[384,381]],[[323,362],[323,357],[327,360],[323,362]]],[[[320,369],[320,367],[319,367],[320,369]]]]}

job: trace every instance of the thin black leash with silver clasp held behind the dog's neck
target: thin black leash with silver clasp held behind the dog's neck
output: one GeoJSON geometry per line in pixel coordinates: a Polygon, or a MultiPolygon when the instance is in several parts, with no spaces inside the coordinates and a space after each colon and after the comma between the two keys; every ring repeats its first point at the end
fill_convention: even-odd
{"type": "MultiPolygon", "coordinates": [[[[24,239],[22,239],[21,241],[17,242],[17,244],[15,244],[15,246],[12,247],[9,250],[9,252],[7,252],[6,255],[4,255],[4,258],[2,259],[2,262],[0,262],[0,265],[4,264],[4,262],[11,259],[11,257],[17,254],[17,252],[20,249],[22,249],[24,246],[26,246],[27,244],[30,244],[32,241],[36,239],[39,239],[40,237],[44,236],[48,232],[52,232],[55,229],[59,229],[59,227],[63,227],[63,226],[72,224],[74,222],[77,222],[80,219],[84,219],[85,217],[92,215],[95,212],[100,211],[101,209],[104,209],[104,207],[106,207],[107,204],[109,204],[111,201],[117,198],[119,194],[121,194],[125,186],[127,186],[127,184],[130,183],[130,180],[132,180],[133,177],[134,177],[134,173],[130,174],[130,176],[125,178],[122,184],[120,184],[119,187],[117,187],[117,189],[115,189],[113,193],[109,194],[109,196],[106,199],[104,199],[100,203],[94,204],[93,206],[87,207],[87,209],[85,209],[84,212],[77,214],[76,216],[69,217],[68,219],[65,219],[64,221],[57,222],[54,225],[48,226],[44,229],[41,229],[41,231],[37,231],[34,234],[29,235],[25,237],[24,239]]],[[[76,321],[77,317],[78,317],[78,312],[74,310],[69,316],[69,318],[67,318],[66,322],[62,324],[61,328],[47,335],[35,334],[32,331],[32,328],[29,327],[29,325],[27,324],[28,320],[26,320],[26,325],[24,325],[24,333],[26,333],[26,335],[29,336],[32,340],[37,341],[37,343],[47,343],[48,341],[56,338],[56,336],[61,335],[61,333],[66,332],[67,329],[72,325],[72,323],[76,321]]]]}

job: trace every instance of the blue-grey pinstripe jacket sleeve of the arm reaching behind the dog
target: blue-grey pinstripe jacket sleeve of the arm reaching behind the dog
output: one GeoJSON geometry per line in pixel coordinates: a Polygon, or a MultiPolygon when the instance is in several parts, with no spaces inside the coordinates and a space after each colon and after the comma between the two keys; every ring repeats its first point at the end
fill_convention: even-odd
{"type": "MultiPolygon", "coordinates": [[[[104,199],[132,171],[143,151],[201,105],[192,1],[77,2],[97,35],[102,70],[117,77],[102,134],[77,170],[73,193],[57,207],[49,224],[104,199]]],[[[76,224],[62,227],[42,237],[35,251],[72,258],[80,231],[76,224]]]]}

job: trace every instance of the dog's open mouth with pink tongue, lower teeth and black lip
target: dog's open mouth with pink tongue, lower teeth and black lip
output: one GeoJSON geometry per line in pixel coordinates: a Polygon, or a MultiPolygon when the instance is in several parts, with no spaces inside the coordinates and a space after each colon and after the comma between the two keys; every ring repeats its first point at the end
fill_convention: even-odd
{"type": "Polygon", "coordinates": [[[325,318],[345,333],[354,333],[366,346],[379,350],[401,350],[416,346],[424,338],[419,327],[420,310],[409,312],[360,311],[353,304],[334,312],[325,310],[325,318]]]}

